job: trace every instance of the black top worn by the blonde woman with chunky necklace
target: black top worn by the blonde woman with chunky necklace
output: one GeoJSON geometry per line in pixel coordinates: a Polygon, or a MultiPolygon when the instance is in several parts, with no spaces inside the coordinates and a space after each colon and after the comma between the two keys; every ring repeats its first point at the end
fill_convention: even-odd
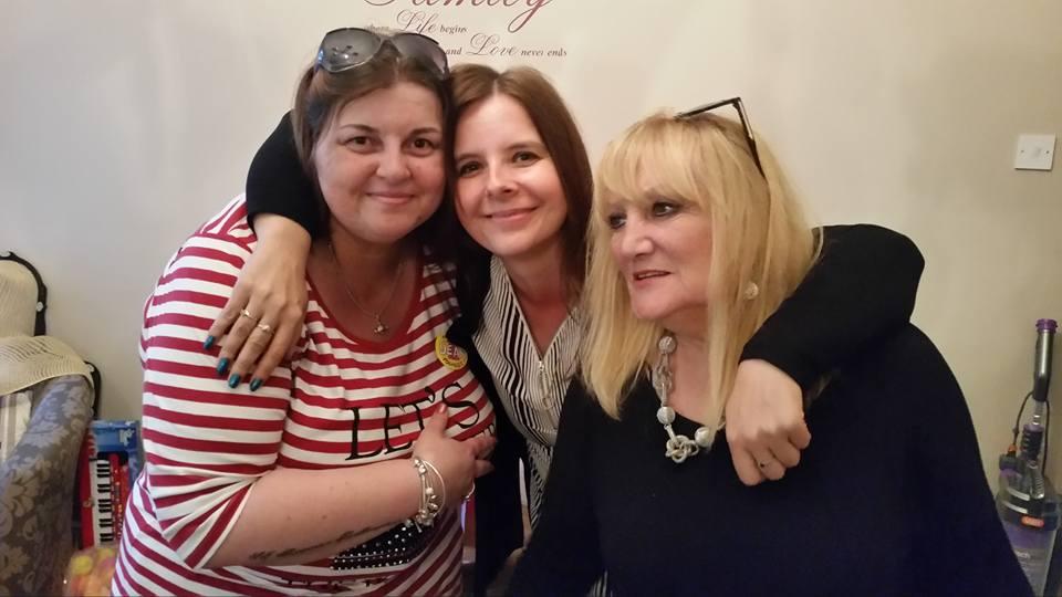
{"type": "MultiPolygon", "coordinates": [[[[647,380],[608,418],[569,392],[513,595],[1031,595],[961,390],[914,326],[841,367],[778,482],[738,480],[722,433],[676,464],[647,380]]],[[[697,423],[678,417],[675,431],[697,423]]]]}

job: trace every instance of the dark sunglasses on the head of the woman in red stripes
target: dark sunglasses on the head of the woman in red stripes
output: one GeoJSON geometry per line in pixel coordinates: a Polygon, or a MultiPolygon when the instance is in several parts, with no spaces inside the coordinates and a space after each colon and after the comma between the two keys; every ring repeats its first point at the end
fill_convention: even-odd
{"type": "Polygon", "coordinates": [[[379,35],[361,28],[329,31],[317,50],[317,66],[330,73],[356,69],[373,60],[384,44],[389,43],[399,54],[415,59],[428,66],[439,78],[449,74],[446,52],[439,42],[419,33],[379,35]]]}

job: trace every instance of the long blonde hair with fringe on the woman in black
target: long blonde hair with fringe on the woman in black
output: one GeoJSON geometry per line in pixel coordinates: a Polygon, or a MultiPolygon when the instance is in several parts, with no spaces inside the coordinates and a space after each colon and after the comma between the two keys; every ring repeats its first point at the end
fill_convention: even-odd
{"type": "Polygon", "coordinates": [[[632,381],[655,359],[664,333],[659,324],[632,314],[611,254],[612,206],[645,205],[664,196],[697,206],[711,219],[705,332],[710,381],[696,413],[709,425],[722,418],[746,343],[816,259],[819,247],[800,205],[766,144],[760,140],[757,148],[764,175],[737,123],[712,114],[684,121],[659,114],[635,123],[605,149],[589,232],[581,365],[587,388],[611,417],[620,417],[632,381]],[[656,188],[645,188],[644,172],[654,174],[656,188]],[[748,282],[760,289],[753,300],[745,296],[748,282]]]}

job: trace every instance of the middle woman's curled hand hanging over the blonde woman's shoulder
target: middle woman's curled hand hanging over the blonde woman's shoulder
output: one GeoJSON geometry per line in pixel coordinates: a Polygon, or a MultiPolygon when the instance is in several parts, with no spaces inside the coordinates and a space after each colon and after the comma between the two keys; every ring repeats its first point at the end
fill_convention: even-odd
{"type": "Polygon", "coordinates": [[[800,386],[766,360],[738,365],[726,417],[733,470],[746,485],[778,481],[811,442],[800,386]]]}

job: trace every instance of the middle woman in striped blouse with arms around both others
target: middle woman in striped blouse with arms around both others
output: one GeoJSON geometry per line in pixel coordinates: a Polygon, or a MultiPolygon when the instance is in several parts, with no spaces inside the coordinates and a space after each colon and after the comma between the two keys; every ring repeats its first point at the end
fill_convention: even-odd
{"type": "MultiPolygon", "coordinates": [[[[462,315],[450,337],[466,338],[462,346],[476,348],[471,358],[479,356],[486,364],[482,380],[492,381],[496,405],[506,415],[500,429],[511,422],[522,436],[514,450],[500,438],[496,471],[483,480],[511,474],[516,457],[523,457],[533,524],[562,397],[577,368],[581,326],[575,305],[592,195],[589,158],[570,112],[538,71],[498,73],[462,64],[451,72],[451,83],[455,205],[468,234],[455,231],[452,240],[461,255],[462,315]],[[512,458],[503,461],[502,454],[512,458]]],[[[301,253],[292,248],[308,244],[317,233],[312,211],[294,200],[305,192],[305,181],[293,167],[290,136],[285,118],[251,167],[249,209],[258,213],[256,226],[268,245],[249,263],[212,327],[220,334],[235,324],[235,339],[225,354],[239,355],[242,371],[250,371],[267,350],[256,376],[269,370],[285,346],[275,338],[270,344],[271,338],[252,333],[233,314],[246,305],[279,313],[298,304],[298,290],[289,290],[288,279],[300,271],[301,253]],[[248,344],[241,350],[242,338],[248,344]]],[[[877,227],[831,227],[822,244],[818,265],[748,343],[738,369],[727,438],[747,484],[781,479],[798,463],[810,440],[802,391],[847,355],[905,323],[914,305],[923,263],[905,237],[877,227]]],[[[508,532],[513,516],[483,498],[477,500],[477,541],[491,527],[508,532]]],[[[500,545],[511,549],[521,538],[510,536],[500,545]]],[[[482,545],[477,552],[477,557],[497,561],[482,545]]],[[[482,569],[488,576],[492,572],[490,565],[482,569]]]]}

